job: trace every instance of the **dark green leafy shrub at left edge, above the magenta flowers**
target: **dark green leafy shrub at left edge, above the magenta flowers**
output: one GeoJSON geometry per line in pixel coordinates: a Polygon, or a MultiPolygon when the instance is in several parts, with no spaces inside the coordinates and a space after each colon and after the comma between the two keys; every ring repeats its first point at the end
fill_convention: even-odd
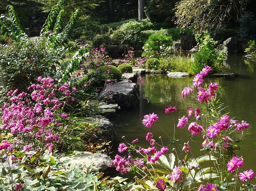
{"type": "Polygon", "coordinates": [[[29,40],[2,46],[0,55],[3,84],[20,90],[34,83],[38,76],[53,76],[56,73],[54,63],[60,59],[53,51],[42,49],[29,40]]]}

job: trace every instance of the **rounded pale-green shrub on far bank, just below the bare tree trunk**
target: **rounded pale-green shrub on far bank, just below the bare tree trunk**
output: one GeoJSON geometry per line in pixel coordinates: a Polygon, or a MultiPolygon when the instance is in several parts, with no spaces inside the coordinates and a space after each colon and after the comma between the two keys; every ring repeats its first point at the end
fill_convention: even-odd
{"type": "Polygon", "coordinates": [[[141,49],[143,45],[143,38],[141,32],[144,29],[144,25],[138,21],[130,21],[120,26],[112,34],[114,41],[118,40],[120,44],[133,46],[135,49],[141,49]]]}

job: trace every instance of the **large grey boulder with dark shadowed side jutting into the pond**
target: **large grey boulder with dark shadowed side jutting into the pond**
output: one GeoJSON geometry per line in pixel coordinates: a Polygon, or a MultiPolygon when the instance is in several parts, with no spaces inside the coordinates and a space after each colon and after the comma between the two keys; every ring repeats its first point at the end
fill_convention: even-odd
{"type": "Polygon", "coordinates": [[[135,108],[139,104],[139,93],[136,84],[130,80],[117,82],[111,86],[106,86],[99,94],[99,100],[114,101],[123,108],[135,108]],[[109,90],[110,91],[106,91],[109,90]],[[111,98],[111,99],[110,99],[111,98]]]}

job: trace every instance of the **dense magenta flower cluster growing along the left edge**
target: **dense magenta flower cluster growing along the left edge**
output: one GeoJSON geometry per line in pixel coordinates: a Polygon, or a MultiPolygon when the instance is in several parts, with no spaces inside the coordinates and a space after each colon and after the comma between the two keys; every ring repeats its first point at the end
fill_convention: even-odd
{"type": "Polygon", "coordinates": [[[31,94],[18,93],[18,89],[8,92],[10,103],[1,108],[1,129],[15,134],[16,146],[25,152],[40,148],[52,152],[53,143],[59,139],[56,129],[68,117],[61,112],[63,101],[55,96],[63,95],[67,102],[74,87],[67,83],[56,87],[52,78],[38,77],[37,81],[28,87],[31,94]]]}

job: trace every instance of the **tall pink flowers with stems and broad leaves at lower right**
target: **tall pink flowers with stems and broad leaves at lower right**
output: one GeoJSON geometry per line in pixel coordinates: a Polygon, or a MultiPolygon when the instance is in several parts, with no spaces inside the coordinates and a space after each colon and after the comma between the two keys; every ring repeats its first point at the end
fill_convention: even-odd
{"type": "MultiPolygon", "coordinates": [[[[226,107],[217,98],[219,85],[205,82],[209,72],[210,67],[204,66],[193,78],[192,85],[181,92],[182,98],[191,96],[201,107],[190,107],[179,120],[173,119],[176,124],[173,135],[169,135],[170,142],[162,142],[161,135],[150,132],[155,126],[161,129],[157,125],[161,119],[156,113],[145,115],[142,120],[149,128],[146,134],[148,148],[140,147],[136,137],[133,142],[126,142],[125,136],[122,137],[124,141],[118,147],[121,154],[115,156],[112,165],[119,172],[137,175],[133,188],[175,191],[255,189],[250,182],[255,177],[255,169],[247,169],[246,161],[239,155],[239,145],[249,123],[236,120],[225,112],[226,107]],[[181,128],[191,132],[191,138],[184,146],[178,144],[175,136],[175,131],[181,128]],[[202,142],[197,142],[197,149],[204,153],[202,156],[197,156],[196,148],[190,148],[194,136],[203,138],[202,142]]],[[[176,110],[176,106],[170,106],[165,113],[172,115],[176,110]]]]}

